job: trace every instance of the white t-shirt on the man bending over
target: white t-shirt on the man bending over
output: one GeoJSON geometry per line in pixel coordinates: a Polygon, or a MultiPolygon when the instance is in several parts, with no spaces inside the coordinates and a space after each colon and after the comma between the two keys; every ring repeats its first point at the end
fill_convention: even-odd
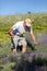
{"type": "MultiPolygon", "coordinates": [[[[20,22],[17,22],[17,23],[15,23],[15,24],[12,26],[13,32],[14,32],[14,33],[16,32],[16,34],[23,34],[23,33],[25,33],[26,31],[28,31],[28,28],[25,28],[23,24],[24,24],[24,21],[20,21],[20,22]]],[[[32,29],[31,26],[30,26],[30,29],[31,29],[31,31],[28,31],[28,32],[33,32],[33,29],[32,29]]]]}

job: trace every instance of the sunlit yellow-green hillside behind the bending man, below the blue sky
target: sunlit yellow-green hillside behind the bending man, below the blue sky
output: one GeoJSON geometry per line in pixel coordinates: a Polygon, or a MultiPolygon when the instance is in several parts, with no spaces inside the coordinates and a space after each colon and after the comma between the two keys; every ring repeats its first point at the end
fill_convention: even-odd
{"type": "Polygon", "coordinates": [[[30,17],[34,19],[33,31],[47,32],[47,13],[26,13],[20,15],[0,15],[0,42],[9,42],[9,29],[17,21],[30,17]]]}

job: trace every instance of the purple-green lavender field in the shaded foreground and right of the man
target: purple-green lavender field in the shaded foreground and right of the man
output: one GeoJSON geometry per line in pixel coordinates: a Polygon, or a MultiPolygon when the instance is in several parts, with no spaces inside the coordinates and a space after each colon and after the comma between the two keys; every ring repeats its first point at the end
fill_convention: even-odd
{"type": "MultiPolygon", "coordinates": [[[[35,46],[36,50],[31,49],[28,51],[31,47],[28,46],[26,54],[0,54],[0,70],[7,70],[7,67],[9,67],[9,71],[47,71],[47,33],[35,34],[35,36],[38,40],[38,44],[35,46]]],[[[31,44],[31,36],[25,36],[25,38],[31,44]]]]}

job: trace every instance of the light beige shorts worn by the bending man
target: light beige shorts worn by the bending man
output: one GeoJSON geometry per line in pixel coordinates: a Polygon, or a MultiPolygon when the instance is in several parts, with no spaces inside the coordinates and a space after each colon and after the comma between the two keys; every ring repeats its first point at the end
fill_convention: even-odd
{"type": "Polygon", "coordinates": [[[26,40],[24,37],[20,37],[17,35],[14,36],[14,38],[11,38],[11,46],[12,48],[16,48],[19,46],[26,46],[26,40]]]}

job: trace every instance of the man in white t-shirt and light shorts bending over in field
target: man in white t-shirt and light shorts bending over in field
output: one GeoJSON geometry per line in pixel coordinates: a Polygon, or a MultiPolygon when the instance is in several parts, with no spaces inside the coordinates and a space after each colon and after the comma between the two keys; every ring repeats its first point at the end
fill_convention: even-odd
{"type": "Polygon", "coordinates": [[[10,33],[11,40],[12,40],[12,46],[13,46],[12,51],[13,52],[16,52],[16,47],[17,47],[19,44],[22,45],[22,52],[26,51],[26,39],[23,36],[23,34],[25,32],[30,32],[34,44],[37,44],[37,42],[35,39],[35,35],[34,35],[33,29],[31,27],[32,22],[33,21],[31,21],[30,19],[25,19],[24,21],[20,21],[17,23],[15,23],[10,28],[9,33],[10,33]]]}

